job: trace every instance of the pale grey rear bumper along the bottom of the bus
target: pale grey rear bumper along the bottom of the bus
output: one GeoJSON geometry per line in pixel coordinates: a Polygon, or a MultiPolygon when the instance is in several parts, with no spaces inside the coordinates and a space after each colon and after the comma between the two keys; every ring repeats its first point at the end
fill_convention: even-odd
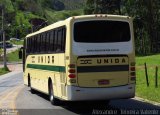
{"type": "Polygon", "coordinates": [[[135,84],[110,88],[84,88],[67,86],[68,101],[83,100],[110,100],[121,98],[133,98],[135,96],[135,84]]]}

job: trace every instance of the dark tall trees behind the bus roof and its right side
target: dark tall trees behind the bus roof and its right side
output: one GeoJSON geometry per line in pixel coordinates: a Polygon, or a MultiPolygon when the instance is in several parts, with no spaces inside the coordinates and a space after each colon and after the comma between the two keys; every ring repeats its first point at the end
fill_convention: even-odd
{"type": "Polygon", "coordinates": [[[85,14],[122,14],[133,17],[136,52],[160,52],[159,0],[87,0],[85,14]]]}

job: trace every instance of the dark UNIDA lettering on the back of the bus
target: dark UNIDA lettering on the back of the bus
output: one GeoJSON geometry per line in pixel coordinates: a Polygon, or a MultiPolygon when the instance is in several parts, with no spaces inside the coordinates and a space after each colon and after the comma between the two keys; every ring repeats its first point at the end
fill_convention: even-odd
{"type": "Polygon", "coordinates": [[[97,64],[105,64],[105,63],[126,63],[125,58],[119,59],[119,58],[115,58],[115,59],[97,59],[97,64]]]}

